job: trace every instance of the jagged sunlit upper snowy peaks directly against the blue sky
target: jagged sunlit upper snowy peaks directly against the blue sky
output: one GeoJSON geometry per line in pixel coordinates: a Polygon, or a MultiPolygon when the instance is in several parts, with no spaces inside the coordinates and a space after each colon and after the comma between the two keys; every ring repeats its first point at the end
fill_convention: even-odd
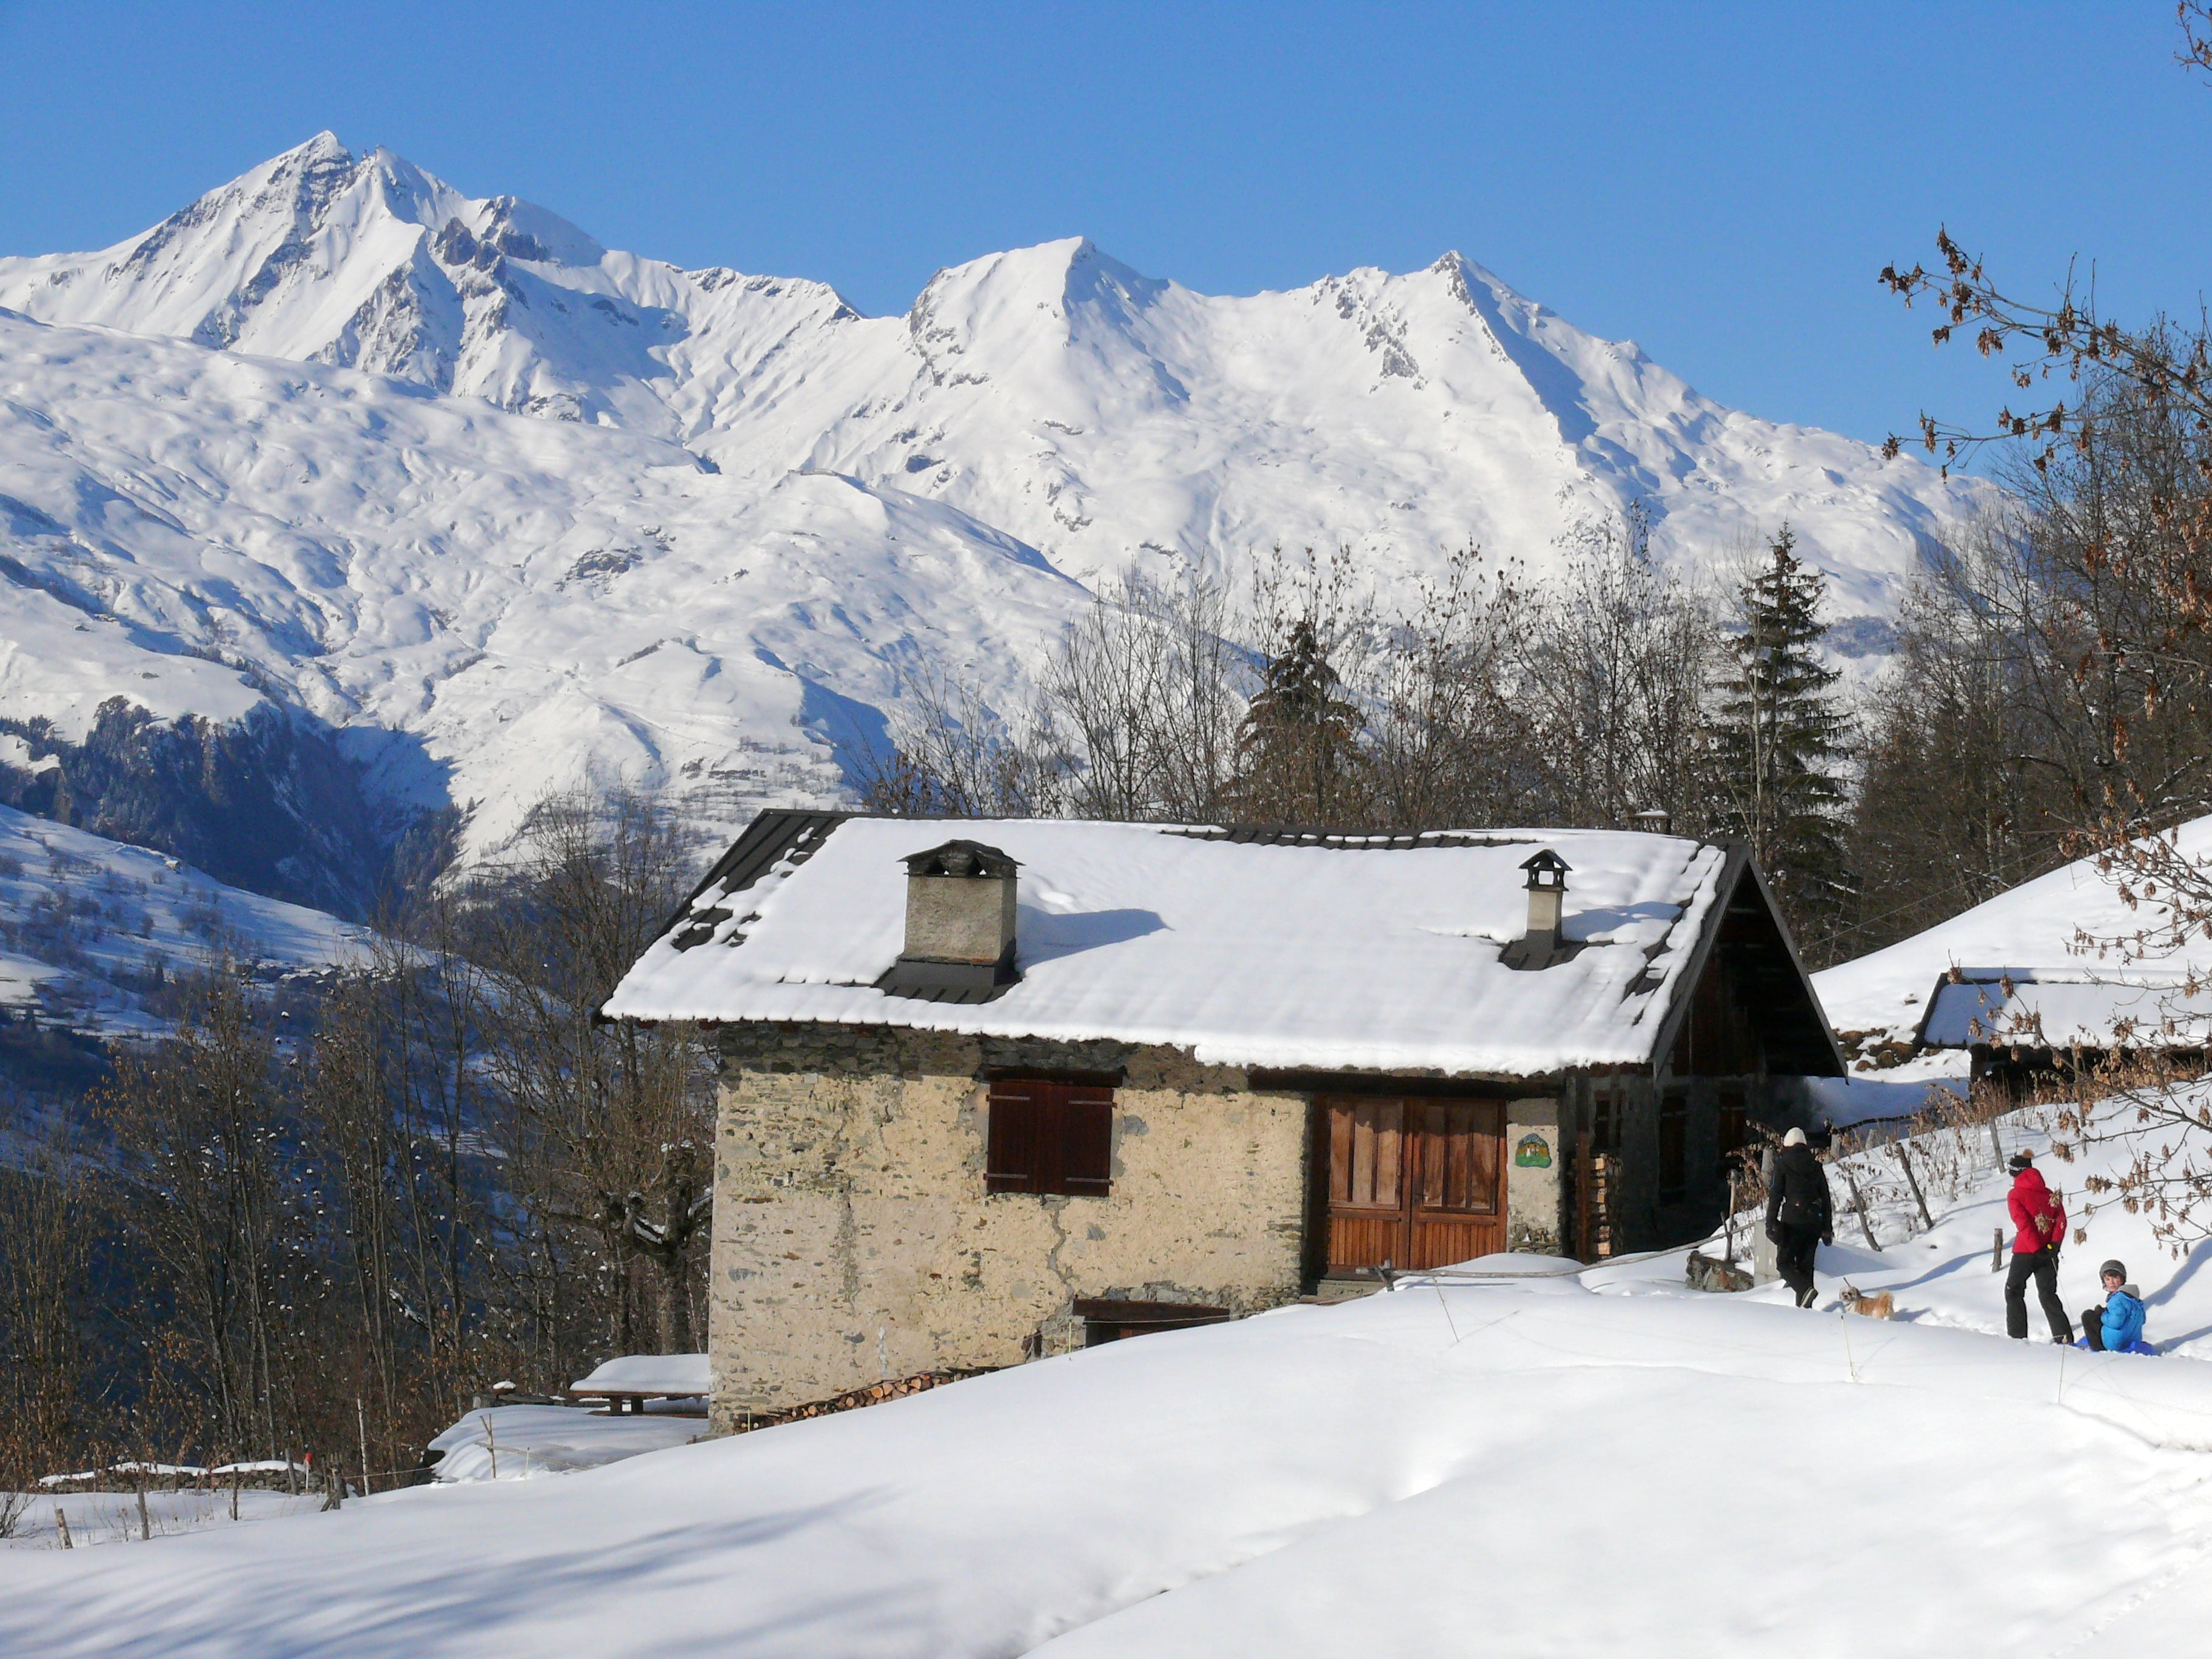
{"type": "Polygon", "coordinates": [[[332,135],[115,250],[0,261],[0,305],[628,427],[759,487],[852,473],[1086,580],[1312,542],[1389,588],[1469,540],[1551,562],[1577,520],[1641,500],[1690,562],[1787,518],[1849,615],[1885,611],[1971,495],[1728,411],[1458,250],[1206,296],[1068,237],[865,319],[825,283],[606,250],[332,135]]]}

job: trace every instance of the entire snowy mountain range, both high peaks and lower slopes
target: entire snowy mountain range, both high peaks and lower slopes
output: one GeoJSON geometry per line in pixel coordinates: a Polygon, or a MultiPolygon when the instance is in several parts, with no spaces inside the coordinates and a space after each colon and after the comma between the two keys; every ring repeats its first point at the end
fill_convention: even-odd
{"type": "Polygon", "coordinates": [[[1004,708],[1130,560],[1352,544],[1402,595],[1641,500],[1699,568],[1790,520],[1878,619],[1971,502],[1458,254],[1212,299],[1060,241],[865,319],[327,133],[0,307],[0,719],[279,703],[478,847],[586,772],[825,801],[918,666],[1004,708]]]}

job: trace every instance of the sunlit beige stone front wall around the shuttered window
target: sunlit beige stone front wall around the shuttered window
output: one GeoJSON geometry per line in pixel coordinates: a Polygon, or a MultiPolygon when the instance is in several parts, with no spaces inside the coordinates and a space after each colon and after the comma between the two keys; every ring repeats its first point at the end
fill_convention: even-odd
{"type": "Polygon", "coordinates": [[[1126,1044],[723,1033],[714,1413],[1013,1365],[1075,1296],[1296,1298],[1307,1102],[1126,1044]],[[1119,1075],[1106,1197],[984,1194],[987,1075],[1119,1075]]]}

